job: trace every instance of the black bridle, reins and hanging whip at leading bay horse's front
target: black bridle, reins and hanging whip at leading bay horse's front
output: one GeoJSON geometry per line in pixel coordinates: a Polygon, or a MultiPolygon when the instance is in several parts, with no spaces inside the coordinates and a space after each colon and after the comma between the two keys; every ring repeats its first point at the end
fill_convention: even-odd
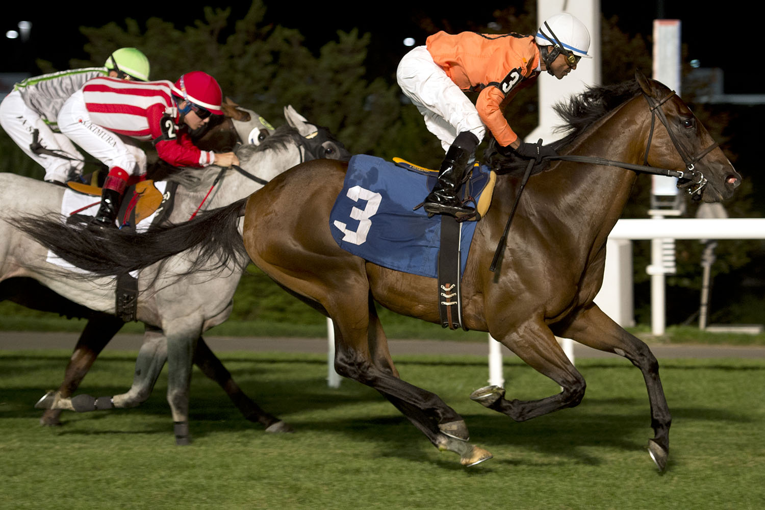
{"type": "MultiPolygon", "coordinates": [[[[675,96],[675,91],[672,90],[672,92],[667,94],[661,100],[656,101],[656,99],[653,99],[653,97],[643,92],[643,97],[646,98],[649,109],[651,111],[651,131],[648,134],[648,143],[646,144],[646,153],[643,156],[643,164],[623,163],[622,161],[614,161],[614,160],[610,160],[606,158],[597,158],[594,156],[574,156],[574,155],[546,156],[545,158],[542,158],[542,159],[551,160],[551,161],[552,160],[573,161],[575,163],[591,163],[591,164],[601,165],[604,167],[625,168],[627,170],[642,172],[643,174],[654,174],[654,175],[663,175],[666,177],[677,177],[679,181],[685,181],[685,183],[682,183],[682,184],[679,182],[677,187],[686,188],[686,191],[688,192],[688,194],[690,194],[694,198],[701,197],[702,190],[707,185],[707,178],[704,177],[704,174],[702,174],[701,171],[698,171],[695,169],[695,164],[698,163],[698,161],[701,161],[702,158],[704,158],[707,154],[709,154],[715,148],[717,148],[718,144],[717,142],[712,143],[711,145],[709,145],[709,147],[702,149],[702,151],[700,151],[695,156],[688,155],[688,153],[682,148],[682,145],[680,145],[680,142],[675,136],[675,134],[672,132],[672,129],[669,128],[669,121],[667,120],[666,115],[664,114],[664,111],[661,109],[661,106],[674,96],[675,96]],[[670,170],[669,168],[652,167],[648,164],[648,153],[651,148],[651,141],[653,140],[653,132],[654,132],[654,129],[656,128],[657,116],[659,117],[659,121],[666,128],[667,133],[669,133],[669,138],[672,140],[672,145],[675,146],[675,149],[678,151],[678,154],[680,154],[682,161],[685,162],[685,168],[687,171],[670,170]]],[[[542,140],[539,140],[539,144],[540,145],[542,144],[542,140]]],[[[526,182],[529,180],[529,176],[531,175],[531,171],[532,171],[532,168],[534,167],[534,164],[537,162],[538,161],[536,160],[531,160],[529,161],[529,164],[526,166],[526,172],[523,174],[520,187],[518,188],[518,193],[516,193],[516,201],[515,203],[513,203],[513,209],[510,210],[510,214],[507,218],[507,223],[505,224],[505,230],[502,234],[502,237],[500,237],[500,242],[498,242],[496,245],[494,258],[492,259],[491,265],[489,266],[489,270],[492,272],[494,272],[494,270],[496,269],[497,261],[499,261],[500,255],[504,251],[504,248],[507,242],[507,233],[509,232],[509,229],[510,229],[510,223],[513,222],[513,216],[515,216],[516,209],[518,207],[518,203],[521,198],[521,193],[523,192],[523,189],[526,187],[526,182]]]]}

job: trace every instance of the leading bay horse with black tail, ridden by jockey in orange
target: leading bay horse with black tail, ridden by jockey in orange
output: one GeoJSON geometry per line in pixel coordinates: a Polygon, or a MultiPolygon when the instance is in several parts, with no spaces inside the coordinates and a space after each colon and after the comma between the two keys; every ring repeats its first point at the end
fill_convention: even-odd
{"type": "MultiPolygon", "coordinates": [[[[679,186],[705,202],[731,197],[741,176],[682,99],[640,73],[634,82],[589,89],[556,109],[570,128],[555,143],[556,151],[564,157],[599,158],[598,162],[555,161],[529,178],[500,266],[492,272],[493,253],[519,188],[517,174],[498,175],[492,204],[470,246],[461,291],[462,317],[469,329],[489,332],[562,391],[520,401],[506,399],[504,388],[486,387],[470,397],[515,421],[574,407],[584,396],[584,378],[555,336],[614,352],[643,373],[654,432],[648,450],[663,470],[672,420],[659,364],[643,341],[593,301],[603,281],[608,234],[637,175],[634,169],[604,166],[603,161],[688,172],[692,179],[679,181],[679,186]]],[[[340,249],[329,215],[346,171],[347,164],[340,161],[309,161],[197,223],[174,226],[161,235],[116,235],[119,250],[134,246],[129,255],[122,254],[131,262],[122,268],[104,265],[103,274],[143,267],[199,242],[210,250],[205,255],[220,257],[213,253],[215,245],[226,253],[241,242],[241,235],[246,252],[262,271],[334,321],[337,372],[375,388],[436,447],[458,453],[463,465],[487,460],[491,454],[469,442],[467,426],[456,411],[438,395],[399,378],[374,304],[440,323],[437,281],[375,265],[340,249]],[[240,234],[233,218],[243,204],[240,234]],[[200,232],[207,236],[188,239],[200,232]],[[146,256],[148,247],[157,252],[146,256]]],[[[30,220],[23,226],[36,239],[47,237],[41,242],[63,258],[76,258],[86,249],[62,246],[57,239],[66,230],[51,235],[49,223],[30,220]]],[[[178,340],[168,339],[169,367],[180,371],[172,376],[173,384],[187,381],[191,366],[190,348],[178,340]]],[[[176,406],[174,419],[186,418],[180,395],[187,398],[188,385],[172,391],[178,396],[171,402],[176,406]]]]}

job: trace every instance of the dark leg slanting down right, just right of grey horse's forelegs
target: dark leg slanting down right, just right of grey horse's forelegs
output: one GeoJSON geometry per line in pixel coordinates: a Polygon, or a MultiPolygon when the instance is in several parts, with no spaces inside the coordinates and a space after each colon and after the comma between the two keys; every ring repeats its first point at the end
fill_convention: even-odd
{"type": "Polygon", "coordinates": [[[194,364],[200,368],[204,375],[213,379],[223,388],[223,391],[226,391],[226,395],[229,395],[231,401],[246,419],[262,424],[266,432],[292,431],[292,427],[278,417],[263,411],[258,404],[244,394],[244,391],[234,382],[231,373],[210,350],[201,336],[197,340],[197,349],[194,351],[194,364]]]}

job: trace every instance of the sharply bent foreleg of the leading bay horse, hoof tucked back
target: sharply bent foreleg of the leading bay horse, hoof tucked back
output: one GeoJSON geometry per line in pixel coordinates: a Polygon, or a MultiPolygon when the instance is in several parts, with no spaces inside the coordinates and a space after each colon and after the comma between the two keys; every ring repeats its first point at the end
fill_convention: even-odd
{"type": "Polygon", "coordinates": [[[562,391],[539,400],[508,401],[504,398],[503,388],[487,386],[470,395],[474,401],[507,414],[515,421],[526,421],[558,409],[572,408],[581,402],[586,388],[584,377],[571,365],[555,335],[542,320],[529,320],[511,334],[503,336],[492,332],[492,336],[537,372],[557,382],[562,391]]]}

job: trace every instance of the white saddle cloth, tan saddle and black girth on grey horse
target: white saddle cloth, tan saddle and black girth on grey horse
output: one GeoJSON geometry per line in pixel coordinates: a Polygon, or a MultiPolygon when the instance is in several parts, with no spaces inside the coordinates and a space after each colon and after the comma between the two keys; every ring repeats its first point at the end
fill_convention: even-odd
{"type": "MultiPolygon", "coordinates": [[[[70,221],[90,221],[95,216],[101,203],[101,188],[90,184],[77,182],[67,183],[69,189],[63,192],[61,214],[70,221]]],[[[117,221],[120,228],[133,229],[142,232],[157,220],[161,220],[171,210],[171,191],[165,193],[166,182],[155,183],[142,180],[125,190],[117,221]]],[[[50,264],[67,268],[70,271],[87,272],[70,265],[58,258],[54,252],[48,252],[46,261],[50,264]]],[[[125,322],[135,320],[135,310],[138,304],[138,273],[121,274],[117,277],[116,312],[125,322]]]]}

